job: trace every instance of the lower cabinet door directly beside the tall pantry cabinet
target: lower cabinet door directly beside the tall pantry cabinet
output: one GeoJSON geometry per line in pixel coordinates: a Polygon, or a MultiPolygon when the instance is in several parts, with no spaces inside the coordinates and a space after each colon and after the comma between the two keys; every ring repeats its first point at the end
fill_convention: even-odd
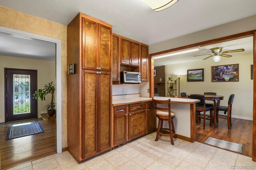
{"type": "Polygon", "coordinates": [[[126,142],[127,114],[114,116],[114,145],[126,142]]]}

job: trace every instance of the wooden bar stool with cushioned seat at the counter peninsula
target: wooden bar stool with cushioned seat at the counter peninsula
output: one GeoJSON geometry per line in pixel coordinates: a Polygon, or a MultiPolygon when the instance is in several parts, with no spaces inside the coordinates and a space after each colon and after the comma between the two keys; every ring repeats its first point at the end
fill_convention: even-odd
{"type": "Polygon", "coordinates": [[[170,136],[171,143],[174,145],[173,138],[176,138],[176,132],[174,128],[174,117],[176,113],[171,111],[171,99],[168,100],[155,100],[152,98],[155,116],[159,119],[158,128],[156,133],[156,140],[158,141],[159,134],[162,136],[170,136]],[[168,107],[160,107],[159,105],[167,105],[168,107]],[[169,128],[163,128],[163,122],[168,121],[169,128]]]}

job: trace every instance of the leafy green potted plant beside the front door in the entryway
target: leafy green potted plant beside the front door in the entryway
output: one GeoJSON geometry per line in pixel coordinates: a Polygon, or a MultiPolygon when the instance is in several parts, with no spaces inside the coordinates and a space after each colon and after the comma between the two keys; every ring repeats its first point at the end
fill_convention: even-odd
{"type": "Polygon", "coordinates": [[[41,101],[45,101],[45,96],[48,94],[52,95],[52,99],[51,99],[51,103],[49,103],[48,105],[46,105],[44,108],[46,108],[47,110],[47,114],[49,116],[53,116],[56,113],[55,110],[55,106],[56,103],[53,103],[53,98],[54,98],[54,92],[55,92],[55,85],[53,84],[53,82],[48,83],[48,85],[46,84],[44,86],[44,89],[42,90],[37,90],[35,91],[35,93],[33,94],[35,99],[38,99],[38,97],[41,99],[41,101]]]}

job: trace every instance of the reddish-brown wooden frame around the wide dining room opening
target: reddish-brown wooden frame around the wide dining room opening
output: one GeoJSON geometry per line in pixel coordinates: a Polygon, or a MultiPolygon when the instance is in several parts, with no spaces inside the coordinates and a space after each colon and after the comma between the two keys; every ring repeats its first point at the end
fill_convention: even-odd
{"type": "MultiPolygon", "coordinates": [[[[253,117],[252,117],[252,121],[253,121],[253,123],[252,123],[253,124],[252,125],[252,160],[256,162],[256,30],[242,32],[239,34],[233,34],[230,36],[207,40],[204,42],[198,42],[198,43],[185,45],[185,46],[177,47],[177,48],[173,48],[173,49],[168,49],[168,50],[164,50],[164,51],[160,51],[160,52],[156,52],[156,53],[151,53],[149,55],[150,61],[151,61],[150,62],[150,93],[149,93],[149,97],[154,97],[154,72],[153,72],[154,71],[154,59],[152,59],[152,57],[154,55],[170,53],[173,51],[197,47],[199,45],[206,46],[206,45],[211,45],[214,43],[227,42],[227,41],[237,40],[240,38],[246,38],[246,37],[250,37],[250,36],[253,36],[253,44],[252,45],[253,45],[253,68],[254,68],[253,69],[254,78],[253,78],[253,117]]],[[[193,129],[194,128],[191,127],[192,132],[194,131],[193,129]]],[[[194,139],[195,139],[195,136],[194,136],[194,139]]]]}

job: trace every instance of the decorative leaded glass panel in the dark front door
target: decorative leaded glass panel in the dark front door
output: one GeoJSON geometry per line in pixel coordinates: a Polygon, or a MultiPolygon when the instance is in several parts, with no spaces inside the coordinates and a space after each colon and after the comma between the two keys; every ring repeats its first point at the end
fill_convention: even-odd
{"type": "Polygon", "coordinates": [[[13,113],[30,113],[30,75],[13,75],[13,113]]]}

